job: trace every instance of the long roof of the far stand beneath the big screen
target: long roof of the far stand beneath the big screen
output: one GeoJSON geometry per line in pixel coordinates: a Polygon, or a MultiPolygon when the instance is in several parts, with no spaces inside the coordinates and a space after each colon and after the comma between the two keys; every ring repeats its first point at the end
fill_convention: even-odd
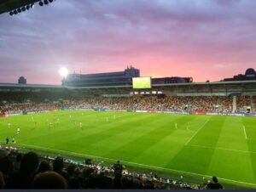
{"type": "Polygon", "coordinates": [[[74,88],[61,85],[11,84],[0,83],[0,93],[47,92],[47,93],[83,93],[88,95],[128,95],[135,92],[150,93],[159,91],[166,95],[256,95],[256,81],[244,82],[194,82],[157,84],[149,89],[133,89],[131,85],[81,87],[74,88]]]}

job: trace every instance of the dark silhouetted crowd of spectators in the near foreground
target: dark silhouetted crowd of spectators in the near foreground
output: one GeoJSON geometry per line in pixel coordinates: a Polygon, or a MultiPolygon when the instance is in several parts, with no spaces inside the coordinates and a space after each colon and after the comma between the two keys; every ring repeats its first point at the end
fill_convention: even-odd
{"type": "Polygon", "coordinates": [[[218,179],[185,184],[156,174],[129,172],[117,161],[112,167],[79,163],[16,150],[0,150],[0,189],[222,189],[218,179]]]}

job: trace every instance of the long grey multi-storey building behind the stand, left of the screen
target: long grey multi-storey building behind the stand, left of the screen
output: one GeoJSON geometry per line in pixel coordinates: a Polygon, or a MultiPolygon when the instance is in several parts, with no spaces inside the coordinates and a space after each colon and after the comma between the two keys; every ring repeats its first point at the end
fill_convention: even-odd
{"type": "Polygon", "coordinates": [[[97,73],[97,74],[70,74],[62,80],[62,85],[73,87],[103,87],[131,85],[133,77],[139,77],[140,71],[128,66],[125,71],[97,73]]]}

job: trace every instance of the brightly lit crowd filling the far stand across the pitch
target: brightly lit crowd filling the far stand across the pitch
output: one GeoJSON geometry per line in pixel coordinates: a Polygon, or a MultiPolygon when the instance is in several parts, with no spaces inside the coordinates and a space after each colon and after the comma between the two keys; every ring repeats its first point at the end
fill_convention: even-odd
{"type": "MultiPolygon", "coordinates": [[[[236,112],[248,112],[249,97],[236,97],[236,112]]],[[[234,112],[233,97],[122,97],[61,99],[58,101],[30,101],[21,104],[2,103],[0,114],[17,113],[22,110],[59,110],[63,108],[105,109],[105,110],[160,110],[160,111],[201,111],[234,112]]]]}

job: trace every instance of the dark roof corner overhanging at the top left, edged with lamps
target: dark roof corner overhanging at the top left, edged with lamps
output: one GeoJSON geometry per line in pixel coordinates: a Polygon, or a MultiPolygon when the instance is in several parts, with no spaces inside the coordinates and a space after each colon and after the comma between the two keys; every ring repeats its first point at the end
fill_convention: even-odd
{"type": "Polygon", "coordinates": [[[15,8],[37,3],[39,0],[0,0],[0,14],[8,13],[15,8]]]}

